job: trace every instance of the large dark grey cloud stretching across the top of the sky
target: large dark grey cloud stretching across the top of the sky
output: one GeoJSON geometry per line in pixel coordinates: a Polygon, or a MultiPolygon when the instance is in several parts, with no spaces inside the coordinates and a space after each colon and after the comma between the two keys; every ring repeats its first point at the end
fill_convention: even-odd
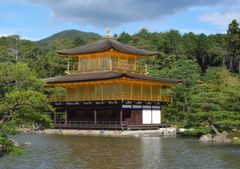
{"type": "MultiPolygon", "coordinates": [[[[161,20],[194,7],[221,5],[227,0],[21,0],[46,5],[55,20],[97,27],[161,20]]],[[[235,0],[228,0],[235,1],[235,0]]],[[[214,18],[215,16],[213,16],[214,18]]],[[[207,21],[202,18],[203,21],[207,21]]],[[[213,19],[212,19],[213,20],[213,19]]],[[[211,22],[210,20],[207,22],[211,22]]]]}

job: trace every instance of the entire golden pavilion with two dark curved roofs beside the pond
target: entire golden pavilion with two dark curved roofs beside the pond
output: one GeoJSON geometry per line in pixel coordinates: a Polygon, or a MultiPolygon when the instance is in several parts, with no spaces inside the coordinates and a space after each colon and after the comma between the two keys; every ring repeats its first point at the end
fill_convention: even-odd
{"type": "Polygon", "coordinates": [[[177,79],[147,76],[144,59],[155,52],[122,44],[111,36],[58,51],[68,60],[65,75],[44,79],[64,92],[50,95],[55,128],[157,129],[161,106],[172,102],[177,79]]]}

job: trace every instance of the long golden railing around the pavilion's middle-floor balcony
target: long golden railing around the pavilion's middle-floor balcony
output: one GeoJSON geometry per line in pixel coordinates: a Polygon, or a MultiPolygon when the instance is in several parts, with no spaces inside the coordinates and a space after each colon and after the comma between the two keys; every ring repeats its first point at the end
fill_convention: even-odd
{"type": "Polygon", "coordinates": [[[104,94],[104,95],[87,95],[87,96],[58,96],[50,95],[50,102],[74,102],[74,101],[112,101],[112,100],[129,100],[129,101],[156,101],[156,102],[172,102],[172,96],[149,96],[130,94],[104,94]]]}

